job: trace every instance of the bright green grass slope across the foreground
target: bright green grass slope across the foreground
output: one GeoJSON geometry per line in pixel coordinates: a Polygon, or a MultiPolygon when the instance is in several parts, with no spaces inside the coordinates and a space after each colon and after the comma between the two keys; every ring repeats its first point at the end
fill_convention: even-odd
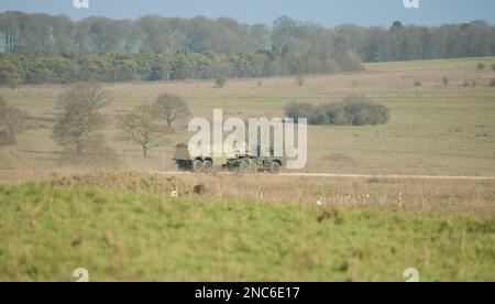
{"type": "Polygon", "coordinates": [[[495,219],[0,186],[0,281],[495,281],[495,219]],[[322,220],[319,220],[322,219],[322,220]]]}

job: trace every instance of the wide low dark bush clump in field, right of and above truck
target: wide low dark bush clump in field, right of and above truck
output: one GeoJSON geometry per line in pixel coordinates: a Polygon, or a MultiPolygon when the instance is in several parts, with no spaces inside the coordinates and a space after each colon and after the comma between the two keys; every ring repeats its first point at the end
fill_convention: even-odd
{"type": "Polygon", "coordinates": [[[342,102],[314,106],[308,102],[290,104],[286,107],[287,117],[307,118],[315,126],[374,126],[384,124],[389,119],[388,109],[370,102],[365,97],[348,96],[342,102]]]}

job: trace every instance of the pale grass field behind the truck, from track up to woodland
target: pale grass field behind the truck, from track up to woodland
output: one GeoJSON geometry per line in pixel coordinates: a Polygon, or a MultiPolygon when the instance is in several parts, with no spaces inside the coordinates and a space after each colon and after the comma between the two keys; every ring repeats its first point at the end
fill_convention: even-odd
{"type": "MultiPolygon", "coordinates": [[[[391,109],[380,127],[310,127],[305,171],[363,174],[495,175],[494,57],[366,64],[366,72],[308,76],[299,87],[293,77],[235,79],[224,88],[212,82],[112,84],[113,102],[105,110],[106,135],[118,151],[120,170],[172,170],[173,144],[187,141],[187,121],[166,132],[147,160],[138,146],[119,141],[116,117],[152,102],[162,93],[185,98],[196,117],[280,117],[292,101],[321,104],[350,94],[364,95],[391,109]],[[484,70],[477,63],[485,63],[484,70]],[[442,84],[442,77],[449,84],[442,84]],[[476,86],[464,86],[465,82],[476,86]],[[415,82],[421,86],[415,86],[415,82]]],[[[54,107],[63,85],[0,89],[28,110],[31,129],[16,146],[1,148],[0,170],[61,170],[58,146],[51,138],[54,107]]]]}

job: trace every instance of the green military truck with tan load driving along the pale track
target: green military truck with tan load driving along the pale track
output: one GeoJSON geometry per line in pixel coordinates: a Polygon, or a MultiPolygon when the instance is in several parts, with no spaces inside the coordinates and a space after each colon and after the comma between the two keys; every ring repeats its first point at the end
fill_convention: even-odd
{"type": "Polygon", "coordinates": [[[233,172],[272,172],[278,173],[282,170],[283,159],[273,156],[273,149],[271,149],[271,156],[260,155],[260,149],[256,148],[256,154],[246,151],[238,151],[232,155],[223,155],[222,158],[213,158],[190,151],[185,143],[179,143],[175,146],[174,161],[179,171],[190,172],[206,172],[209,173],[213,167],[221,167],[226,171],[233,172]]]}

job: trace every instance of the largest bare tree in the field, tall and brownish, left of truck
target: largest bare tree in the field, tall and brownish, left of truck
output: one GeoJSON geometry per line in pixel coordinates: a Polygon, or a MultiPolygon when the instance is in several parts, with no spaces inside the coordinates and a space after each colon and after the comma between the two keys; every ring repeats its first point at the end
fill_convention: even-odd
{"type": "Polygon", "coordinates": [[[110,102],[109,94],[96,85],[77,85],[59,97],[61,117],[53,138],[66,153],[90,153],[101,142],[98,131],[105,124],[100,110],[110,102]]]}

